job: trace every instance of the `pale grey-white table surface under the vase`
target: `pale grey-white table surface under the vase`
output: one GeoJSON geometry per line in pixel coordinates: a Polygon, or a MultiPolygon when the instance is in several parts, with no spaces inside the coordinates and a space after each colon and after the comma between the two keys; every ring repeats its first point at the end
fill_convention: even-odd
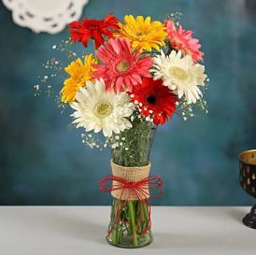
{"type": "Polygon", "coordinates": [[[109,206],[0,206],[1,255],[256,254],[249,207],[152,206],[154,241],[115,248],[105,235],[109,206]]]}

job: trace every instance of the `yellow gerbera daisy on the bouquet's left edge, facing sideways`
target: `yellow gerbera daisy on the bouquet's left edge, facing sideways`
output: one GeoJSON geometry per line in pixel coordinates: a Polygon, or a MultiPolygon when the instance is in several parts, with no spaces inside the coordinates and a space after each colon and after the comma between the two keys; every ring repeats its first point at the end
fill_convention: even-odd
{"type": "Polygon", "coordinates": [[[97,61],[93,55],[90,54],[85,56],[84,63],[78,58],[64,68],[65,72],[70,75],[70,78],[64,80],[64,88],[61,91],[62,102],[72,103],[78,89],[85,86],[87,80],[93,80],[92,71],[95,69],[92,64],[97,64],[97,61]]]}

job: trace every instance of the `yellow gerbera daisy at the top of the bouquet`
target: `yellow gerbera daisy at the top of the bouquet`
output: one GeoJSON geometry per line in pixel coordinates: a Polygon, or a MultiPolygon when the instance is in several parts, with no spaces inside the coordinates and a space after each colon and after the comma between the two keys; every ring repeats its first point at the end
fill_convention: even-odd
{"type": "Polygon", "coordinates": [[[127,38],[133,49],[140,52],[142,50],[160,50],[164,46],[164,39],[167,36],[164,24],[160,21],[150,21],[150,17],[145,20],[143,16],[124,16],[124,23],[119,23],[120,29],[115,36],[127,38]]]}

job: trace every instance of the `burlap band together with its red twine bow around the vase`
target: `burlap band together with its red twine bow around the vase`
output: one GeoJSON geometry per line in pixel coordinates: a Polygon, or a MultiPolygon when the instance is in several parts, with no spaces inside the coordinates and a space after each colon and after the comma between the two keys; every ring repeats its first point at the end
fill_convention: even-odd
{"type": "MultiPolygon", "coordinates": [[[[106,176],[98,183],[99,189],[104,192],[111,192],[112,196],[118,199],[115,208],[115,219],[112,227],[108,230],[107,237],[115,229],[116,224],[120,220],[122,209],[128,204],[129,200],[138,201],[139,217],[136,220],[135,229],[144,214],[144,206],[146,205],[146,213],[148,220],[141,229],[140,234],[146,234],[151,227],[149,197],[158,197],[163,193],[163,180],[161,177],[149,177],[150,164],[145,166],[126,167],[111,161],[112,176],[106,176]],[[149,190],[157,191],[149,193],[149,190]]],[[[123,221],[124,224],[129,221],[123,221]]]]}

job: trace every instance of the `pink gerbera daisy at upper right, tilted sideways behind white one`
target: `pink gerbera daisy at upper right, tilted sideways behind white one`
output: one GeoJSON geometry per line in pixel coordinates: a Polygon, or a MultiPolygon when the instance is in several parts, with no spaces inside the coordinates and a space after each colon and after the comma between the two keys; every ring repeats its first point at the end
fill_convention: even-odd
{"type": "Polygon", "coordinates": [[[199,40],[192,38],[191,30],[184,30],[181,25],[178,29],[173,21],[165,21],[168,38],[173,49],[180,50],[184,55],[190,54],[194,63],[203,60],[204,53],[199,50],[199,40]]]}

